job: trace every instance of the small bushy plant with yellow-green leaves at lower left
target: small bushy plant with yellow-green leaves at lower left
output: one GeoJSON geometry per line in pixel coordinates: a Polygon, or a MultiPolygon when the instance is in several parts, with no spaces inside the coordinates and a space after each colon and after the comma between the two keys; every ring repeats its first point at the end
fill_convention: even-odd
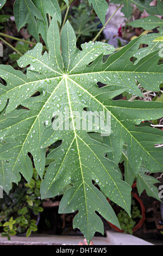
{"type": "Polygon", "coordinates": [[[11,235],[26,233],[28,237],[32,231],[37,231],[39,213],[43,211],[40,199],[40,179],[34,169],[30,183],[20,182],[18,187],[12,188],[9,197],[5,195],[0,204],[1,236],[10,240],[11,235]]]}

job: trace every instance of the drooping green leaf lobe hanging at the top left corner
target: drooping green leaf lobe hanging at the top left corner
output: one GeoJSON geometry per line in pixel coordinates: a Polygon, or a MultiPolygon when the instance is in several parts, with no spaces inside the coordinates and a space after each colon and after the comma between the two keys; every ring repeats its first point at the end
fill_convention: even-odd
{"type": "Polygon", "coordinates": [[[40,11],[31,0],[16,0],[14,2],[14,17],[18,31],[28,23],[28,31],[39,42],[36,18],[43,21],[40,11]]]}

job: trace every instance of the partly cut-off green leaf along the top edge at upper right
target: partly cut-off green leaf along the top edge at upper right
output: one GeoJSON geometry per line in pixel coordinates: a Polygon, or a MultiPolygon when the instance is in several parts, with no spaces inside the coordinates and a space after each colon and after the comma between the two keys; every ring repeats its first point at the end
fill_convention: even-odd
{"type": "Polygon", "coordinates": [[[129,19],[133,6],[131,4],[136,4],[136,7],[139,8],[140,11],[146,10],[148,14],[158,14],[158,9],[156,6],[152,6],[151,0],[112,0],[111,3],[114,4],[123,4],[121,11],[124,13],[125,17],[129,19]]]}

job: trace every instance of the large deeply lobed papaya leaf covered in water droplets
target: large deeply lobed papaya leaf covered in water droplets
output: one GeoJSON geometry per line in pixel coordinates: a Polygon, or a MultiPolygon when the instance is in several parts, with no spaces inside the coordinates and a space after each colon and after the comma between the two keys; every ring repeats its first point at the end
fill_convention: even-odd
{"type": "Polygon", "coordinates": [[[103,233],[101,219],[95,211],[119,226],[106,197],[130,214],[131,187],[121,179],[116,164],[121,158],[124,142],[128,145],[127,155],[135,174],[140,168],[141,157],[150,170],[162,170],[162,150],[155,148],[153,151],[153,145],[162,139],[162,131],[135,126],[142,120],[162,117],[162,103],[112,100],[126,90],[141,95],[136,81],[147,89],[159,90],[162,65],[158,65],[158,51],[142,58],[136,65],[130,61],[139,48],[140,38],[116,53],[112,53],[114,47],[103,42],[83,44],[80,51],[68,21],[60,38],[55,16],[48,29],[47,44],[48,53],[42,55],[42,45],[38,43],[18,60],[20,67],[28,66],[26,75],[8,65],[0,66],[1,77],[7,82],[0,88],[0,111],[5,108],[7,115],[1,122],[0,158],[5,161],[1,175],[3,180],[8,176],[9,182],[18,182],[21,173],[29,181],[33,169],[29,163],[31,154],[42,177],[45,149],[60,140],[60,147],[48,155],[54,162],[49,165],[42,181],[41,196],[54,197],[70,184],[59,211],[78,211],[73,225],[82,230],[90,242],[95,231],[103,233]],[[103,55],[109,55],[105,63],[103,55]],[[107,86],[99,88],[98,82],[107,86]],[[36,92],[40,95],[35,96],[36,92]],[[16,109],[15,112],[19,105],[27,109],[16,109]],[[86,115],[81,116],[84,111],[86,115]],[[79,129],[79,120],[86,122],[87,117],[92,128],[82,126],[79,129]],[[111,124],[110,136],[110,130],[106,129],[106,133],[103,130],[108,126],[93,126],[92,120],[96,117],[104,124],[111,124]],[[70,124],[68,129],[65,128],[67,122],[70,124]],[[96,136],[94,139],[89,136],[88,132],[93,131],[107,135],[104,143],[98,142],[96,136]]]}

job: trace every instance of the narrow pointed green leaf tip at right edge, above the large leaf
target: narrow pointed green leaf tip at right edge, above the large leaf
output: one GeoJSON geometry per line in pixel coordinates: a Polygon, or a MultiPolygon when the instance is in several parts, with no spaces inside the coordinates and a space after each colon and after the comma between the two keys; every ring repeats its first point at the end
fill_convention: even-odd
{"type": "Polygon", "coordinates": [[[154,29],[156,27],[163,26],[163,20],[161,20],[158,16],[150,15],[146,18],[131,21],[128,25],[134,28],[143,28],[145,30],[154,29]]]}

